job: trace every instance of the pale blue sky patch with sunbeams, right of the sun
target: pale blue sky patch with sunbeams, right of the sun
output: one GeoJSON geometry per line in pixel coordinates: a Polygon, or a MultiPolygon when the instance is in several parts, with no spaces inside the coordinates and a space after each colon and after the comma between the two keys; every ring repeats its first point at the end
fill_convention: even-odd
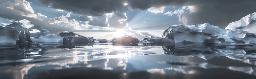
{"type": "MultiPolygon", "coordinates": [[[[175,11],[181,7],[166,7],[164,12],[175,11]]],[[[145,11],[129,11],[126,12],[128,27],[133,30],[145,31],[145,30],[160,30],[167,29],[171,25],[179,24],[177,16],[163,15],[163,13],[151,13],[147,10],[145,11]]]]}

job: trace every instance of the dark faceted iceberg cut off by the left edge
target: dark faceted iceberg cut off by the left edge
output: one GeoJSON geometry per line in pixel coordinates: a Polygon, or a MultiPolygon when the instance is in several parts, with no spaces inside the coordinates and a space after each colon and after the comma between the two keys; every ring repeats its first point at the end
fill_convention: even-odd
{"type": "Polygon", "coordinates": [[[0,42],[32,42],[27,28],[15,19],[0,17],[0,42]]]}

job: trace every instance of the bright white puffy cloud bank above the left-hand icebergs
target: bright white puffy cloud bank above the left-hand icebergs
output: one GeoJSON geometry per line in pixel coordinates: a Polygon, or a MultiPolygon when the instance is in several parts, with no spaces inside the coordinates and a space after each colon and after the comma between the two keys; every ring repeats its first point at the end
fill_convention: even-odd
{"type": "Polygon", "coordinates": [[[75,19],[68,20],[67,17],[70,17],[70,13],[67,15],[61,15],[59,17],[47,18],[47,16],[37,13],[38,19],[26,18],[30,20],[35,26],[40,26],[45,28],[46,30],[58,34],[62,31],[69,31],[72,29],[80,28],[81,23],[76,21],[75,19]],[[80,25],[79,25],[80,24],[80,25]]]}

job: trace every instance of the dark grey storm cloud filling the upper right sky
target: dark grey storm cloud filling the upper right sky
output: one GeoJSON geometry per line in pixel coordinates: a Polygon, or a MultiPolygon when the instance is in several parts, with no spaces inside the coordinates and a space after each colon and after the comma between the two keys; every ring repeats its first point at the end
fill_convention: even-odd
{"type": "Polygon", "coordinates": [[[193,6],[186,24],[210,23],[225,28],[229,23],[256,12],[256,0],[127,0],[133,9],[162,6],[193,6]]]}

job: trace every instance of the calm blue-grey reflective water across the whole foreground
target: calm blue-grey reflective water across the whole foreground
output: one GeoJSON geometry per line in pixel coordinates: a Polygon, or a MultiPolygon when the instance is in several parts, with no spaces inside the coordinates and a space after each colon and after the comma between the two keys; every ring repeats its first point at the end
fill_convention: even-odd
{"type": "Polygon", "coordinates": [[[256,79],[256,45],[0,44],[0,79],[256,79]]]}

